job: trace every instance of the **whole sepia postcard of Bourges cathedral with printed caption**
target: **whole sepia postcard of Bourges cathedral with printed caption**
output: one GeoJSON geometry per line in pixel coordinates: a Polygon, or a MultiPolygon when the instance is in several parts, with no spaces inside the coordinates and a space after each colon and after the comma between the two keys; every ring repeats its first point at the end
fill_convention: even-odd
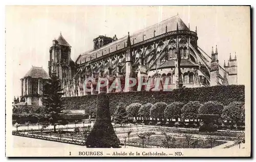
{"type": "Polygon", "coordinates": [[[6,156],[251,156],[250,6],[6,6],[6,156]]]}

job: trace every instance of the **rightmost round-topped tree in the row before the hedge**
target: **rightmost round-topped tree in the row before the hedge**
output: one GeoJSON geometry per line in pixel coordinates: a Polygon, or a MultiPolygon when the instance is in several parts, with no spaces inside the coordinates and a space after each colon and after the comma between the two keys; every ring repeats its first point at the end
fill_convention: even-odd
{"type": "Polygon", "coordinates": [[[224,107],[223,119],[231,120],[232,125],[243,123],[245,119],[244,104],[242,102],[231,102],[224,107]]]}

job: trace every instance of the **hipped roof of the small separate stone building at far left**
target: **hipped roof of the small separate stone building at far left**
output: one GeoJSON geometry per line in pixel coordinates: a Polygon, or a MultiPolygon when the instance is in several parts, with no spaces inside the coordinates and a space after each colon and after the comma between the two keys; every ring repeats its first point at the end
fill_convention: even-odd
{"type": "Polygon", "coordinates": [[[49,79],[48,73],[42,68],[42,67],[34,67],[27,72],[25,77],[32,77],[32,78],[43,78],[43,79],[49,79]]]}

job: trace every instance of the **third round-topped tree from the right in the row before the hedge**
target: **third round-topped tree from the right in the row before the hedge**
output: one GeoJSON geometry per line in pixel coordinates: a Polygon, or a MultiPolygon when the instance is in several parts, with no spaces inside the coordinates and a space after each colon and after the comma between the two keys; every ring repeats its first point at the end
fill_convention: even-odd
{"type": "Polygon", "coordinates": [[[189,101],[181,109],[181,117],[183,119],[197,119],[198,110],[201,107],[199,101],[189,101]]]}

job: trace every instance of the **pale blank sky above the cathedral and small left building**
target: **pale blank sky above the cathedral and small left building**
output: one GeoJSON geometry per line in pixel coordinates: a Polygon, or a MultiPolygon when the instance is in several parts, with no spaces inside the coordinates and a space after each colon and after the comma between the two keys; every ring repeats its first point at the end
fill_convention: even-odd
{"type": "Polygon", "coordinates": [[[20,95],[20,78],[32,66],[48,72],[49,48],[60,32],[72,46],[71,58],[93,48],[99,35],[117,38],[175,15],[190,30],[197,26],[198,46],[208,55],[218,45],[219,64],[238,59],[238,84],[250,70],[249,7],[230,6],[7,6],[6,69],[12,96],[20,95]],[[246,73],[246,72],[247,73],[246,73]]]}

